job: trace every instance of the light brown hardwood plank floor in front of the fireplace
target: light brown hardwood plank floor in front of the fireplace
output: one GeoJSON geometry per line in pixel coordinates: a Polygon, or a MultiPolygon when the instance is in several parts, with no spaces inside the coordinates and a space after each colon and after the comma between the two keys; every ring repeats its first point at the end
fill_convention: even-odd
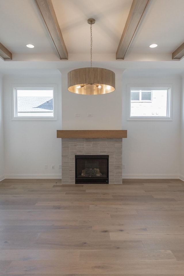
{"type": "Polygon", "coordinates": [[[0,276],[18,275],[184,275],[184,182],[1,181],[0,276]]]}

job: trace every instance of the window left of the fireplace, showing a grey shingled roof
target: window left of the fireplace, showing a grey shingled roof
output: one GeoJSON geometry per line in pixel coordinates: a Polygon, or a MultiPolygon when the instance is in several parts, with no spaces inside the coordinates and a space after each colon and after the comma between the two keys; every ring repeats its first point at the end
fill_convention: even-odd
{"type": "Polygon", "coordinates": [[[56,85],[12,86],[12,120],[56,120],[56,85]]]}

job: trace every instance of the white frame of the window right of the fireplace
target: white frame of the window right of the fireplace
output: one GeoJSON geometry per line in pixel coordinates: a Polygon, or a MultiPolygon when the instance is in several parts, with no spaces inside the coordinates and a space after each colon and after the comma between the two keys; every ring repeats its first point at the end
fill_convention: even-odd
{"type": "MultiPolygon", "coordinates": [[[[139,102],[139,101],[137,101],[139,102]]],[[[144,102],[144,101],[143,101],[144,102]]],[[[127,120],[128,121],[172,121],[173,120],[173,85],[127,85],[127,120]],[[131,116],[131,90],[168,90],[167,116],[131,116]]]]}

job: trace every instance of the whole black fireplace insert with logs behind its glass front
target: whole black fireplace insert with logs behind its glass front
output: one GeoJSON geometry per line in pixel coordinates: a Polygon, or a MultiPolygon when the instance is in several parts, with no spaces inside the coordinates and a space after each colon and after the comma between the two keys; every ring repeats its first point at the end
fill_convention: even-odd
{"type": "Polygon", "coordinates": [[[108,155],[75,155],[75,183],[109,183],[108,155]]]}

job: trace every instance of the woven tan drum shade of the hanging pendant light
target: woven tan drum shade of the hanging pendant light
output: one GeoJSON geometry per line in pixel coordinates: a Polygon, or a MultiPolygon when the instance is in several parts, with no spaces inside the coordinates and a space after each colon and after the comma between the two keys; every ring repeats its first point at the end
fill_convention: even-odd
{"type": "Polygon", "coordinates": [[[86,67],[68,72],[68,91],[70,92],[82,95],[98,95],[114,90],[115,73],[111,70],[86,67]]]}

